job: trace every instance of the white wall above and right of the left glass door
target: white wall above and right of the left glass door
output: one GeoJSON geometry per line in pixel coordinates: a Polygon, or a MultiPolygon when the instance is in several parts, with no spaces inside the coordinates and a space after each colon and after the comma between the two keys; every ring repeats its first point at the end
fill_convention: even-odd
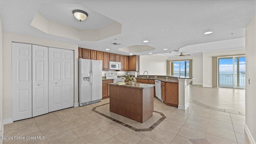
{"type": "Polygon", "coordinates": [[[181,60],[192,60],[192,76],[196,77],[193,79],[193,84],[203,84],[203,56],[185,56],[185,57],[173,57],[169,58],[171,61],[181,60]]]}

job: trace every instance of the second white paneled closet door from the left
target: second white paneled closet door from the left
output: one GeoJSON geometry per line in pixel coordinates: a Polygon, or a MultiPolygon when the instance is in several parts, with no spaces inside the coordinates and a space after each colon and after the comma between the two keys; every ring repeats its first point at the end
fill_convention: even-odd
{"type": "Polygon", "coordinates": [[[48,113],[48,47],[32,45],[32,117],[48,113]]]}

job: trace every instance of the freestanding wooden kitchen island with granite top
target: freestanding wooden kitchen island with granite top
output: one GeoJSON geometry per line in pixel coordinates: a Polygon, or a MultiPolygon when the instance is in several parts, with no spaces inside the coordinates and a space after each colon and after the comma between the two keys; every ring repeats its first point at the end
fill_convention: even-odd
{"type": "Polygon", "coordinates": [[[154,84],[110,84],[110,112],[145,122],[154,112],[154,84]]]}

